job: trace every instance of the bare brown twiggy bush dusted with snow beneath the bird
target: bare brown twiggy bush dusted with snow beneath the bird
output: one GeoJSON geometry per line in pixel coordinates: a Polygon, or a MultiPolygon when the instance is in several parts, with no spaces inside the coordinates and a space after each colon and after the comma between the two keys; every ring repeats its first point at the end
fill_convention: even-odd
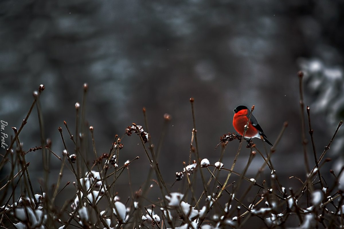
{"type": "MultiPolygon", "coordinates": [[[[302,82],[302,72],[299,77],[302,82]]],[[[87,87],[84,85],[84,90],[87,87]]],[[[37,103],[43,90],[44,85],[40,85],[39,90],[34,93],[33,105],[37,103]]],[[[194,99],[190,102],[193,104],[194,99]]],[[[84,103],[81,104],[75,104],[77,114],[83,109],[84,103]]],[[[254,107],[252,111],[253,109],[254,107]]],[[[133,136],[138,137],[142,145],[141,155],[131,159],[122,153],[125,151],[125,145],[121,143],[122,138],[118,135],[115,135],[114,141],[110,143],[109,152],[99,154],[94,137],[95,127],[77,129],[80,131],[78,136],[73,136],[71,133],[75,131],[72,131],[66,122],[64,128],[58,128],[61,145],[64,147],[62,152],[54,152],[49,140],[46,145],[25,150],[19,134],[28,122],[31,111],[32,107],[22,126],[18,130],[13,129],[15,136],[0,163],[0,169],[4,166],[10,168],[8,182],[0,187],[0,224],[5,228],[246,228],[253,218],[259,219],[261,225],[267,228],[339,228],[343,225],[344,188],[343,182],[338,178],[342,177],[344,167],[337,173],[322,169],[322,165],[329,161],[324,157],[332,141],[337,140],[335,135],[342,122],[338,124],[333,138],[331,141],[329,139],[330,143],[321,155],[317,155],[315,149],[310,152],[312,156],[314,152],[314,163],[305,162],[306,176],[297,178],[300,181],[298,187],[290,188],[279,179],[280,170],[271,160],[278,157],[275,152],[278,151],[278,142],[283,139],[282,134],[275,146],[267,151],[266,156],[252,140],[243,141],[240,135],[234,133],[225,134],[220,138],[221,152],[224,153],[227,144],[235,142],[239,144],[239,149],[232,163],[224,163],[222,156],[219,156],[214,159],[216,162],[213,164],[206,158],[200,158],[195,144],[197,136],[194,135],[194,127],[191,148],[186,149],[188,153],[185,160],[189,159],[188,163],[176,158],[181,164],[181,170],[175,172],[158,163],[152,143],[155,139],[144,131],[147,128],[135,123],[123,128],[122,138],[129,138],[132,133],[136,133],[137,135],[133,136]],[[85,131],[90,131],[90,139],[84,138],[87,136],[85,131]],[[77,137],[79,139],[76,139],[77,137]],[[73,144],[73,151],[70,151],[72,148],[67,148],[68,138],[68,144],[73,144]],[[90,164],[86,161],[83,147],[80,147],[80,139],[83,143],[89,140],[88,143],[93,146],[93,152],[90,154],[93,162],[90,164]],[[243,144],[247,149],[241,147],[243,144]],[[45,178],[40,181],[41,191],[34,190],[34,181],[32,177],[30,179],[30,162],[25,160],[25,154],[37,150],[42,151],[42,171],[45,178]],[[242,171],[237,171],[236,159],[244,150],[248,152],[247,164],[242,171]],[[261,166],[255,176],[248,176],[247,170],[253,157],[257,157],[256,152],[262,157],[261,166]],[[60,166],[58,174],[50,174],[51,162],[50,157],[46,157],[47,154],[56,158],[57,162],[54,163],[60,166]],[[133,162],[138,159],[142,164],[146,164],[147,170],[152,171],[147,181],[143,182],[139,190],[130,191],[129,195],[117,193],[118,178],[123,171],[130,171],[132,166],[135,166],[133,162]],[[175,173],[175,182],[166,182],[162,171],[168,171],[170,177],[175,173]],[[66,173],[73,175],[73,179],[63,185],[61,179],[66,173]],[[332,180],[325,180],[322,175],[324,173],[331,174],[332,180]],[[50,187],[49,180],[52,179],[54,185],[50,187]],[[64,196],[65,203],[56,203],[57,198],[61,199],[61,192],[71,183],[74,190],[64,196]],[[148,199],[149,192],[155,187],[158,191],[155,191],[153,198],[148,199]]],[[[303,112],[306,111],[309,111],[308,107],[303,112]]],[[[77,117],[80,119],[79,123],[86,123],[83,115],[77,117]]],[[[165,121],[171,119],[167,114],[164,117],[165,121]]],[[[283,125],[281,133],[286,127],[287,123],[283,125]]],[[[314,141],[310,121],[309,128],[310,139],[314,141]]],[[[132,138],[127,139],[128,142],[132,138]]],[[[307,153],[307,148],[304,150],[307,153]]],[[[293,174],[289,177],[295,178],[293,174]]],[[[130,185],[128,180],[128,186],[130,185]]]]}

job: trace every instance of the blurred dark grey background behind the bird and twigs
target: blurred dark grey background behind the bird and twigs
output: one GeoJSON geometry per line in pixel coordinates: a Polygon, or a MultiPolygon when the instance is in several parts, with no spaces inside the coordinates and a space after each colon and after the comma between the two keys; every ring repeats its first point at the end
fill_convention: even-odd
{"type": "MultiPolygon", "coordinates": [[[[296,181],[289,176],[305,177],[299,70],[305,71],[305,105],[311,107],[318,155],[343,119],[343,10],[343,1],[3,0],[0,118],[8,122],[6,133],[12,134],[10,127],[19,128],[29,110],[32,92],[44,84],[45,137],[61,155],[58,127],[66,134],[65,120],[74,133],[75,103],[82,102],[83,84],[88,83],[86,120],[94,126],[100,154],[107,153],[115,135],[122,136],[132,122],[144,126],[142,107],[147,109],[152,142],[158,145],[163,115],[168,113],[172,119],[159,164],[172,184],[175,172],[189,159],[191,97],[200,157],[211,163],[220,155],[220,148],[214,151],[219,137],[235,131],[233,109],[255,105],[254,115],[271,142],[283,122],[289,122],[272,161],[280,179],[293,185],[296,181]]],[[[328,157],[337,159],[341,154],[343,132],[328,157]]],[[[73,152],[72,142],[65,138],[73,152]]],[[[40,145],[36,109],[20,139],[24,149],[40,145]]],[[[262,142],[255,142],[264,149],[262,142]]],[[[147,177],[147,158],[136,135],[121,143],[120,165],[140,156],[131,166],[132,187],[137,190],[147,177]]],[[[228,144],[225,167],[230,168],[238,145],[238,141],[228,144]]],[[[92,161],[91,142],[89,146],[92,161]]],[[[309,153],[313,161],[311,148],[309,153]]],[[[235,170],[242,170],[248,154],[249,149],[243,148],[235,170]]],[[[36,174],[31,179],[37,181],[42,177],[41,152],[27,158],[33,163],[30,172],[36,174]]],[[[248,173],[255,174],[262,163],[257,156],[248,173]]],[[[339,158],[329,168],[340,169],[343,164],[339,158]]],[[[60,162],[52,158],[52,183],[59,169],[60,162]]],[[[73,179],[67,171],[62,183],[73,179]]],[[[121,182],[126,184],[127,178],[121,182]]],[[[118,192],[126,199],[123,190],[118,192]]]]}

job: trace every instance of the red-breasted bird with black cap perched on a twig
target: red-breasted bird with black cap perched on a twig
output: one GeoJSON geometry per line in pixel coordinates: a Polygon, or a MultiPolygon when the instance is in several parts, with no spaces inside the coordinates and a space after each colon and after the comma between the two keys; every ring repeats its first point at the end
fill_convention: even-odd
{"type": "MultiPolygon", "coordinates": [[[[233,126],[234,129],[243,136],[244,128],[247,125],[248,117],[251,111],[246,106],[237,106],[234,110],[233,126]]],[[[263,138],[271,147],[272,144],[268,141],[263,129],[259,126],[257,119],[253,114],[251,115],[250,122],[248,123],[248,129],[245,133],[245,138],[263,138]]]]}

